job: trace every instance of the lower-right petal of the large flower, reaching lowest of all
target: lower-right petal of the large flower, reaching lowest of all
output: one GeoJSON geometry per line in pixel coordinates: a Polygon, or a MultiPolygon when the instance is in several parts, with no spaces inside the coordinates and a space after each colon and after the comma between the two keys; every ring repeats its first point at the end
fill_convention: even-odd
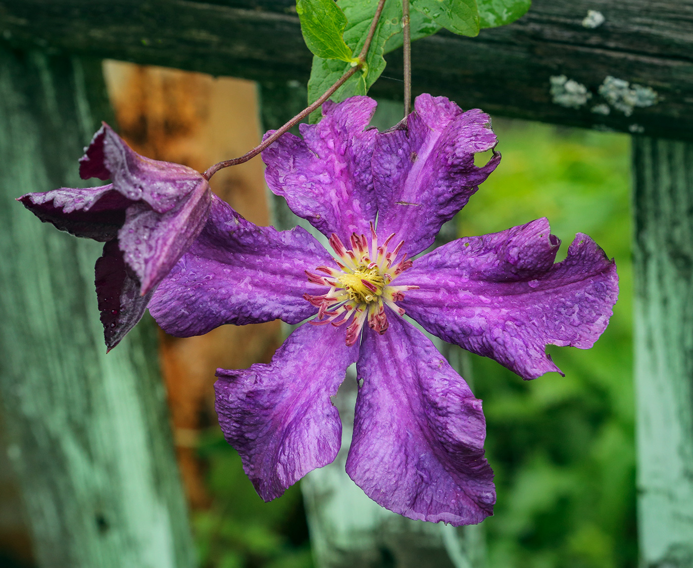
{"type": "Polygon", "coordinates": [[[426,336],[389,316],[385,335],[364,332],[347,473],[405,517],[479,523],[495,503],[481,401],[426,336]]]}

